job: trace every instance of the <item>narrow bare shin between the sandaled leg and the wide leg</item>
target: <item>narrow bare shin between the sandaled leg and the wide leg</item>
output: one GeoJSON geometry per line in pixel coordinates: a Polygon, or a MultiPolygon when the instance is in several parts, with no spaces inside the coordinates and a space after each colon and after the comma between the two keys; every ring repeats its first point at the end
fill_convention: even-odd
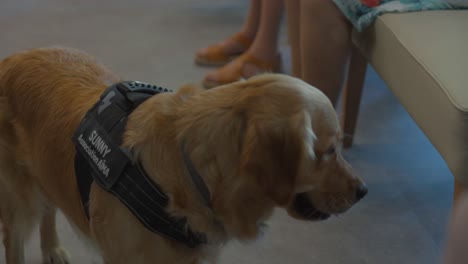
{"type": "Polygon", "coordinates": [[[300,1],[301,0],[286,0],[286,11],[288,18],[288,37],[291,47],[292,57],[292,75],[301,77],[301,49],[299,38],[299,21],[300,21],[300,1]]]}

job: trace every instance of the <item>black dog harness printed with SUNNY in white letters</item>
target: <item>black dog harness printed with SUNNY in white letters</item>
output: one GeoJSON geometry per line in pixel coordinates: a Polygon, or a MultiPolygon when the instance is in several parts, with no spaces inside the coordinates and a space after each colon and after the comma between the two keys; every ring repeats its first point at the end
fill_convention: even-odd
{"type": "MultiPolygon", "coordinates": [[[[76,147],[75,173],[81,201],[89,218],[89,193],[95,181],[117,196],[128,209],[154,233],[189,247],[206,243],[203,234],[194,233],[186,219],[166,212],[169,199],[151,180],[140,164],[132,160],[128,149],[120,147],[127,118],[135,108],[153,95],[172,92],[141,82],[121,82],[107,88],[88,111],[73,136],[76,147]]],[[[205,204],[210,193],[183,151],[187,170],[205,204]]]]}

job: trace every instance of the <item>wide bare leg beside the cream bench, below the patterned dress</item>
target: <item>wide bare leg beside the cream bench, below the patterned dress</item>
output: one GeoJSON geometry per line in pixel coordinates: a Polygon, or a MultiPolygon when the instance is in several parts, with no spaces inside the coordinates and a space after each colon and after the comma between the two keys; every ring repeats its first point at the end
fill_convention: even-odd
{"type": "Polygon", "coordinates": [[[301,78],[336,105],[350,52],[351,25],[332,1],[301,0],[301,78]]]}

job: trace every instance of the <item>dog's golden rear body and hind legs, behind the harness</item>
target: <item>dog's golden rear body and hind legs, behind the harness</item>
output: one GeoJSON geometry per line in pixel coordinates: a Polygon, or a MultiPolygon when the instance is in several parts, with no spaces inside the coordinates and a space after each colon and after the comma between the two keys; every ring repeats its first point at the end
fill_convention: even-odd
{"type": "MultiPolygon", "coordinates": [[[[55,206],[87,232],[86,218],[77,210],[71,137],[115,81],[75,50],[35,49],[0,62],[0,216],[8,264],[22,263],[22,241],[41,217],[41,229],[49,228],[55,206]]],[[[64,263],[66,254],[56,248],[53,233],[41,237],[49,245],[43,249],[45,261],[64,263]]]]}

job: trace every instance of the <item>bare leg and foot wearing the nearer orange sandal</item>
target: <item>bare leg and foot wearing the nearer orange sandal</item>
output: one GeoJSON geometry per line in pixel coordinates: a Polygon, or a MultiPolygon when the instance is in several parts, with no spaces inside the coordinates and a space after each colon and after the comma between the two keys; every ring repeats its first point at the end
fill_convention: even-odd
{"type": "Polygon", "coordinates": [[[246,56],[241,56],[225,66],[209,72],[205,76],[205,86],[225,84],[248,78],[264,71],[278,71],[280,57],[278,54],[279,25],[283,13],[283,0],[262,0],[260,24],[255,39],[245,52],[255,58],[254,63],[246,56]]]}

